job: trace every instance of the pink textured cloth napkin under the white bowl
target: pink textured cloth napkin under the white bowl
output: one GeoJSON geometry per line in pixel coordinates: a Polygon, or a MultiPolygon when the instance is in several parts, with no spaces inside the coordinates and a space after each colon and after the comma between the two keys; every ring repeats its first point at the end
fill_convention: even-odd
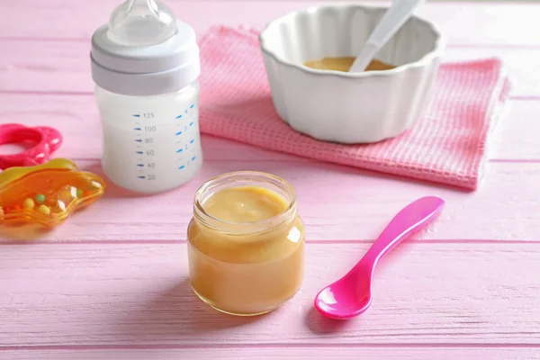
{"type": "Polygon", "coordinates": [[[302,135],[275,112],[254,30],[202,38],[201,131],[260,148],[475,190],[509,96],[500,60],[443,64],[422,118],[395,139],[340,145],[302,135]]]}

